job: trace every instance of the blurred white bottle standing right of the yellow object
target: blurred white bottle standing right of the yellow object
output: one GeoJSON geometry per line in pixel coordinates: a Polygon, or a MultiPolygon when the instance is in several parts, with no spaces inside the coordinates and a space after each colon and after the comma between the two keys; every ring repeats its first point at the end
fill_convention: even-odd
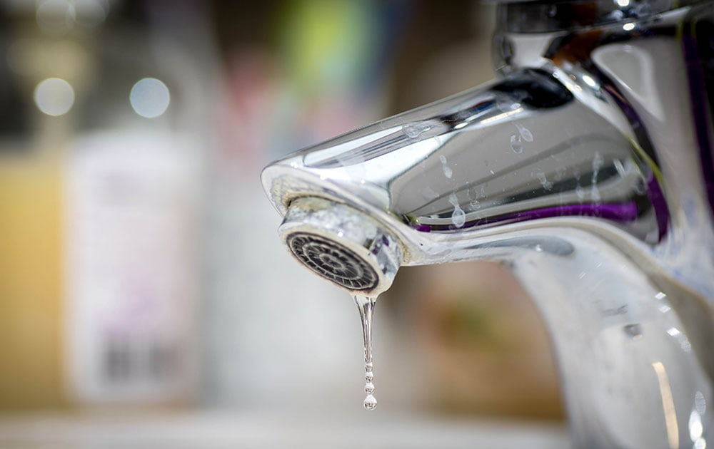
{"type": "Polygon", "coordinates": [[[149,16],[109,14],[66,164],[67,371],[89,406],[198,390],[208,79],[149,16]]]}

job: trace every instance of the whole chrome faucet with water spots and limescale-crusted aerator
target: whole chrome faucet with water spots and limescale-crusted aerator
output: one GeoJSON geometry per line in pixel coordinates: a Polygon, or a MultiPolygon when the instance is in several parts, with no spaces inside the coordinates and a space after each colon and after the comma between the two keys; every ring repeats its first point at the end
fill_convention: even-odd
{"type": "Polygon", "coordinates": [[[495,81],[263,170],[299,262],[375,297],[500,262],[548,326],[573,445],[714,444],[714,2],[506,1],[495,81]]]}

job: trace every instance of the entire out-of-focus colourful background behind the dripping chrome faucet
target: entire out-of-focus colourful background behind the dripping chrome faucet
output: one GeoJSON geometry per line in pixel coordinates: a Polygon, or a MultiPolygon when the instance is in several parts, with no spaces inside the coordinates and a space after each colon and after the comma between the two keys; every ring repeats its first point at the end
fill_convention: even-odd
{"type": "Polygon", "coordinates": [[[2,1],[0,446],[156,447],[178,428],[196,447],[380,443],[359,443],[366,426],[377,447],[431,444],[415,429],[563,443],[547,333],[483,262],[401,269],[376,307],[380,405],[362,411],[356,307],[281,247],[259,182],[293,150],[492,78],[493,16],[2,1]]]}

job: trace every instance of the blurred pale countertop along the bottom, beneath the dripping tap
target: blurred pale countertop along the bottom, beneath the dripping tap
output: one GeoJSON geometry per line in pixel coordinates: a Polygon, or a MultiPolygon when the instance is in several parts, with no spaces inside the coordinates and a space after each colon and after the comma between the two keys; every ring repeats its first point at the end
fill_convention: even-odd
{"type": "MultiPolygon", "coordinates": [[[[362,411],[360,411],[362,412],[362,411]]],[[[568,448],[558,423],[353,413],[0,415],[0,448],[568,448]]]]}

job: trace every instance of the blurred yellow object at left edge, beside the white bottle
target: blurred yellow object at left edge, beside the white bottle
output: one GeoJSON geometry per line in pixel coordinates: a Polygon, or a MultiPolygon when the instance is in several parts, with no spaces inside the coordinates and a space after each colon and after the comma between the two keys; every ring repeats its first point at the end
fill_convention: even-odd
{"type": "Polygon", "coordinates": [[[61,167],[0,159],[0,410],[64,405],[61,167]]]}

